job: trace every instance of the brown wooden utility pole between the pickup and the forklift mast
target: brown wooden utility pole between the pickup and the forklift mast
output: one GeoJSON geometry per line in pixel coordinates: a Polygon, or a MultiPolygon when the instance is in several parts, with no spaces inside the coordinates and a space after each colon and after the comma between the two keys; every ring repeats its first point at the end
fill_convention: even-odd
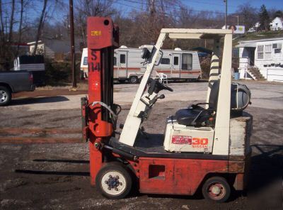
{"type": "Polygon", "coordinates": [[[71,72],[72,72],[72,90],[76,90],[76,57],[75,57],[75,40],[74,40],[74,9],[73,0],[69,0],[70,13],[70,42],[71,42],[71,72]]]}

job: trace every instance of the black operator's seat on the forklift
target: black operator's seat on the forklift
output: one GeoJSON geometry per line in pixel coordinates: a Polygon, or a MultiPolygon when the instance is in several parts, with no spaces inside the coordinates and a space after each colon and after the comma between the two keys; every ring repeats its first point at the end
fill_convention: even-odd
{"type": "Polygon", "coordinates": [[[180,109],[175,113],[175,119],[180,125],[185,126],[196,126],[201,125],[204,121],[208,120],[212,115],[212,112],[217,109],[217,101],[218,101],[218,91],[219,91],[219,81],[214,82],[212,85],[212,89],[209,95],[209,108],[204,109],[200,103],[192,105],[187,109],[180,109]]]}

